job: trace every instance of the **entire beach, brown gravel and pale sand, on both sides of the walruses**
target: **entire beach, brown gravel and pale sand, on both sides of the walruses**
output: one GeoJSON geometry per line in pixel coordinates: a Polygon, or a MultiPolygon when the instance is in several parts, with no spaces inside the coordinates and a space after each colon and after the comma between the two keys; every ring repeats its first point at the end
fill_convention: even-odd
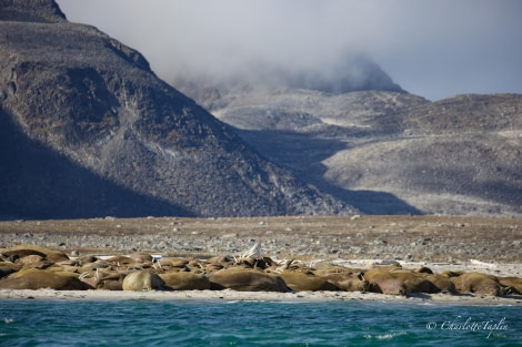
{"type": "MultiPolygon", "coordinates": [[[[255,218],[116,218],[0,222],[0,252],[20,244],[56,248],[71,257],[147,252],[158,257],[240,255],[260,242],[261,255],[308,265],[329,262],[368,268],[399,263],[522,277],[522,220],[438,216],[305,216],[255,218]]],[[[0,290],[0,298],[151,298],[224,300],[430,300],[470,305],[522,305],[518,295],[234,290],[110,292],[0,290]]]]}

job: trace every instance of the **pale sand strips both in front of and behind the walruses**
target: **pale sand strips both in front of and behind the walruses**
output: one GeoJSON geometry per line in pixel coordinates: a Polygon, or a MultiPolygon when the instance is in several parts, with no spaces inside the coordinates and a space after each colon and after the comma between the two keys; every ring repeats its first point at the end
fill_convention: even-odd
{"type": "MultiPolygon", "coordinates": [[[[324,262],[315,259],[303,262],[310,265],[324,262]]],[[[385,265],[382,259],[337,259],[337,265],[347,267],[371,267],[385,265]]],[[[424,262],[396,262],[403,268],[414,269],[426,266],[435,273],[443,271],[479,272],[495,276],[522,276],[521,263],[500,263],[468,261],[460,263],[424,263],[424,262]]],[[[521,306],[522,295],[508,296],[484,296],[472,293],[465,294],[423,294],[411,293],[406,296],[383,295],[379,293],[361,292],[238,292],[224,290],[53,290],[53,289],[0,289],[0,300],[3,299],[80,299],[80,300],[213,300],[213,302],[349,302],[349,300],[371,300],[382,303],[418,303],[418,304],[441,304],[441,305],[479,305],[479,306],[521,306]]]]}

